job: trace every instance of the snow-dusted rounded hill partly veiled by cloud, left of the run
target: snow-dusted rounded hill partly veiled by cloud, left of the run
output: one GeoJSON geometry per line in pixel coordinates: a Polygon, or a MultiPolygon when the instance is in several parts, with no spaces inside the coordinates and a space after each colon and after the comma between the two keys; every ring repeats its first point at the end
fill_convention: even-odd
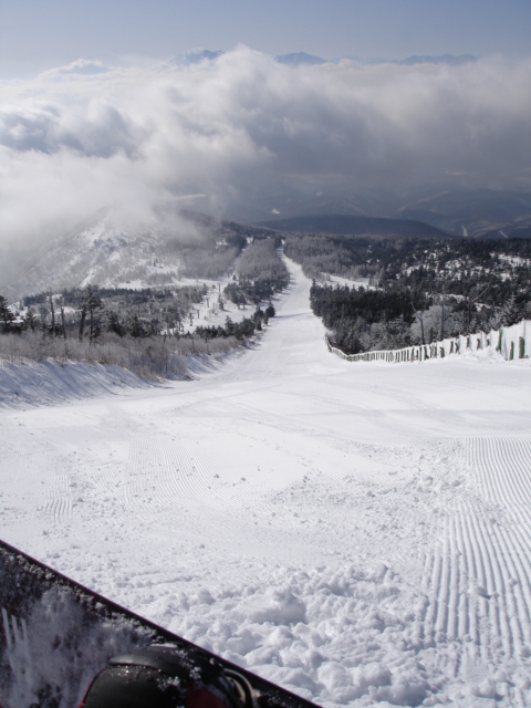
{"type": "MultiPolygon", "coordinates": [[[[102,209],[92,219],[37,250],[18,275],[2,284],[9,301],[23,295],[84,288],[176,288],[185,275],[217,277],[226,269],[223,251],[231,239],[263,229],[222,221],[192,211],[176,210],[152,216],[144,227],[102,209]],[[217,263],[215,256],[222,262],[217,263]],[[198,267],[198,263],[210,263],[198,267]],[[219,271],[219,273],[218,273],[219,271]]],[[[236,251],[235,251],[236,254],[236,251]]],[[[229,259],[230,262],[230,259],[229,259]]]]}

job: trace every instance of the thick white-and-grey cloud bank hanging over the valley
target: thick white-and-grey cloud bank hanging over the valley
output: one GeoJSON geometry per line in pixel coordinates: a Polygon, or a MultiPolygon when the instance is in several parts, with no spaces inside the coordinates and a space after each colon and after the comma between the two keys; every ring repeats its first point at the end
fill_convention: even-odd
{"type": "Polygon", "coordinates": [[[230,214],[274,185],[531,184],[531,59],[294,69],[240,46],[187,67],[80,60],[2,95],[4,252],[111,204],[146,222],[160,201],[230,214]]]}

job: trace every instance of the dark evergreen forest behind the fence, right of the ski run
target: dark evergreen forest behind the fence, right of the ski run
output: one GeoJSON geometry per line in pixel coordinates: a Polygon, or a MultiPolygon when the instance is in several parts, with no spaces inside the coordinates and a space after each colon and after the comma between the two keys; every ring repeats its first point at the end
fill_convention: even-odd
{"type": "Polygon", "coordinates": [[[531,242],[369,241],[290,237],[287,254],[314,278],[312,308],[346,353],[428,343],[531,316],[531,242]],[[369,288],[323,287],[329,273],[369,288]]]}

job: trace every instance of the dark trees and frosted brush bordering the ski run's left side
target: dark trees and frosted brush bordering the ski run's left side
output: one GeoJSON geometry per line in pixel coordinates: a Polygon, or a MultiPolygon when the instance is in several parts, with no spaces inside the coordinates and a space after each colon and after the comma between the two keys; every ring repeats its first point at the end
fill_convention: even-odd
{"type": "Polygon", "coordinates": [[[194,333],[184,332],[186,306],[199,302],[206,292],[205,285],[189,287],[175,298],[169,291],[106,291],[87,287],[62,295],[28,298],[23,317],[0,296],[3,333],[0,358],[98,362],[117,364],[142,375],[181,378],[186,375],[185,355],[215,354],[241,346],[261,329],[262,321],[267,322],[267,315],[260,311],[238,325],[230,326],[228,320],[215,336],[200,327],[194,333]],[[127,308],[121,311],[118,305],[124,302],[127,308]],[[179,311],[179,303],[185,310],[179,311]]]}

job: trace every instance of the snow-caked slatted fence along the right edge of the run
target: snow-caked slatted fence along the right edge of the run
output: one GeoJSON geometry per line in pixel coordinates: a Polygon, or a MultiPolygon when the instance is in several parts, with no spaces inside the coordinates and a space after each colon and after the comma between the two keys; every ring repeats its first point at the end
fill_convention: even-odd
{"type": "Polygon", "coordinates": [[[425,362],[430,358],[444,358],[452,354],[464,354],[488,350],[499,352],[507,361],[529,358],[531,356],[531,320],[522,320],[518,324],[490,332],[478,332],[467,336],[458,336],[431,342],[431,344],[417,344],[402,350],[385,350],[376,352],[362,352],[360,354],[345,354],[332,346],[325,335],[329,352],[344,358],[347,362],[388,362],[400,364],[406,362],[425,362]]]}

